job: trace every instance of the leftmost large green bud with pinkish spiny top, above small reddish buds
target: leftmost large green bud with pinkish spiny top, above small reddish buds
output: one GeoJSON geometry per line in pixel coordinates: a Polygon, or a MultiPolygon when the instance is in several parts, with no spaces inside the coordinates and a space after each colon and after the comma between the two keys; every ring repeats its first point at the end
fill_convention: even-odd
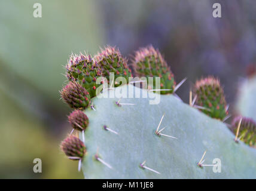
{"type": "Polygon", "coordinates": [[[80,54],[72,55],[66,65],[69,81],[78,81],[90,93],[90,97],[96,96],[96,79],[102,76],[102,70],[93,61],[92,56],[80,54]]]}

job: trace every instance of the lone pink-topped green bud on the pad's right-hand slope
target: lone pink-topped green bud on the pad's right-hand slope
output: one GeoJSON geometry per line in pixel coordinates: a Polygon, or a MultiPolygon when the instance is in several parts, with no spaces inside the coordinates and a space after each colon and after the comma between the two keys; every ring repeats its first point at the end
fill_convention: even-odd
{"type": "Polygon", "coordinates": [[[228,115],[224,91],[219,79],[211,76],[200,79],[194,85],[194,94],[197,96],[196,104],[202,107],[202,112],[221,120],[228,115]]]}

